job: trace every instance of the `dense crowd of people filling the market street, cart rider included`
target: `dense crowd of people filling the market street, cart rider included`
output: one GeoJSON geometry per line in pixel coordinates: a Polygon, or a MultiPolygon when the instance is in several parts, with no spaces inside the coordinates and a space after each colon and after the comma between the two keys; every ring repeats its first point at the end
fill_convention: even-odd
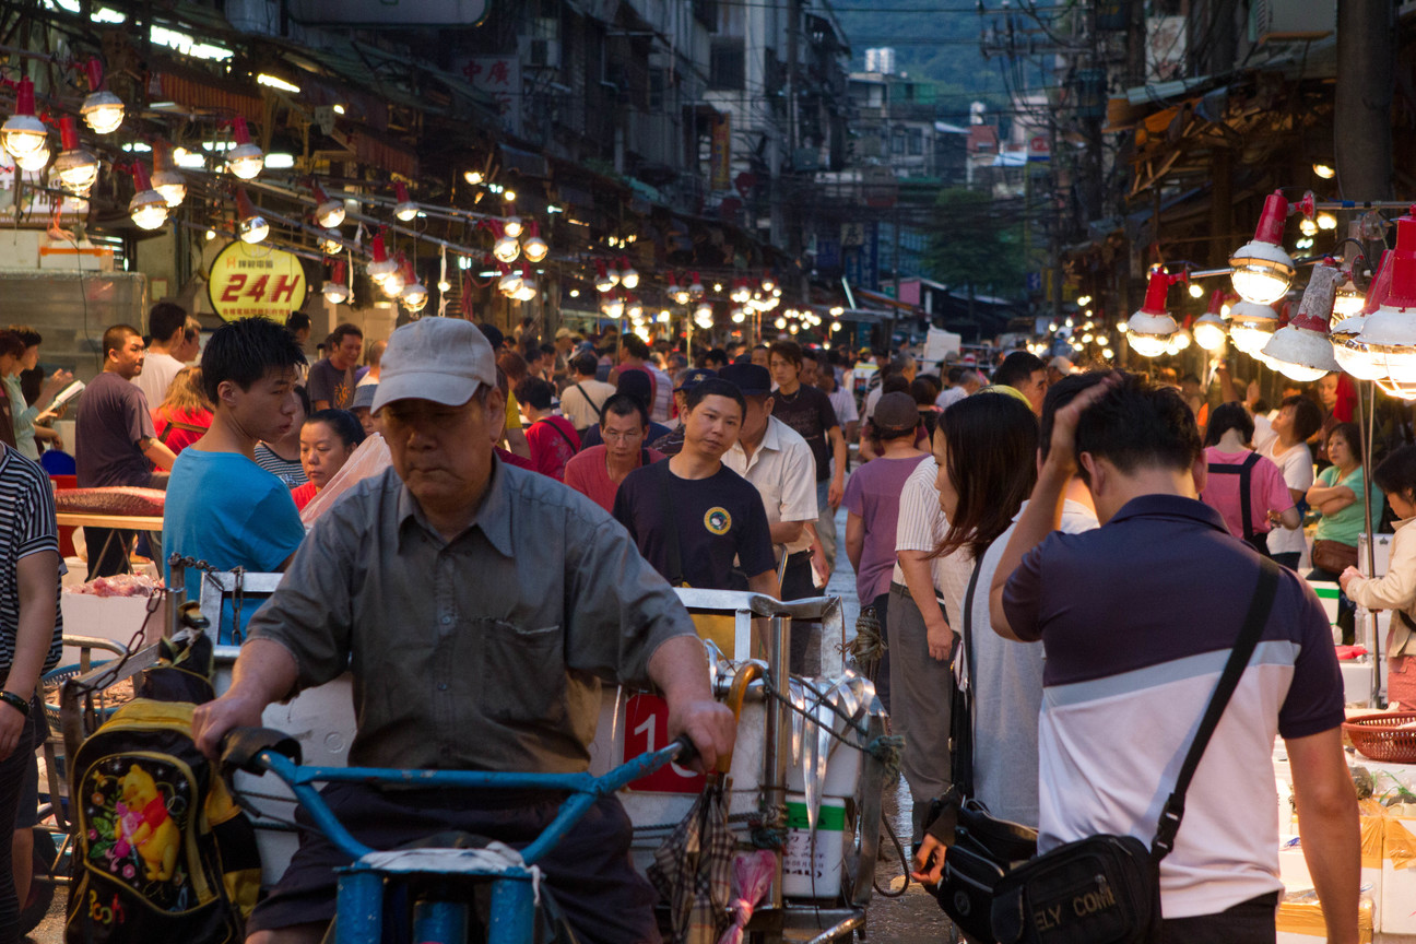
{"type": "MultiPolygon", "coordinates": [[[[860,626],[879,637],[877,689],[905,737],[916,875],[937,880],[944,852],[930,815],[954,787],[959,686],[970,693],[974,798],[994,815],[1037,827],[1044,849],[1092,832],[1148,841],[1263,555],[1287,568],[1272,645],[1243,677],[1236,718],[1209,749],[1222,760],[1201,766],[1161,868],[1167,940],[1236,924],[1257,930],[1223,940],[1264,940],[1266,910],[1272,940],[1276,736],[1293,760],[1330,940],[1355,940],[1341,678],[1328,620],[1296,572],[1307,560],[1308,579],[1340,582],[1348,627],[1355,604],[1398,614],[1392,699],[1416,703],[1416,532],[1405,526],[1416,447],[1391,451],[1366,483],[1335,378],[1270,410],[1225,372],[1211,403],[1195,378],[1079,372],[1024,351],[991,367],[919,364],[905,351],[847,361],[780,340],[690,358],[613,331],[542,340],[534,324],[507,337],[423,318],[372,341],[337,326],[307,364],[310,324],[292,316],[228,323],[194,364],[190,328],[181,309],[159,304],[150,343],[130,326],[103,334],[75,459],[79,487],[166,488],[160,534],[85,529],[91,577],[127,569],[140,551],[286,573],[259,611],[224,617],[219,640],[245,645],[231,691],[198,709],[204,750],[351,665],[350,763],[583,770],[600,679],[612,679],[658,686],[670,733],[688,733],[707,769],[731,750],[732,720],[671,587],[818,596],[844,545],[860,626]],[[1355,548],[1386,501],[1399,519],[1392,563],[1371,579],[1352,566],[1355,548]]],[[[31,706],[33,681],[58,655],[51,607],[64,566],[50,484],[13,454],[28,454],[25,425],[45,439],[45,398],[68,378],[41,374],[33,399],[16,392],[37,364],[38,335],[25,331],[0,333],[17,433],[0,491],[25,495],[23,521],[0,529],[11,542],[0,555],[10,759],[7,744],[34,736],[18,705],[31,706]]],[[[817,651],[810,627],[794,627],[792,671],[814,672],[817,651]]],[[[18,802],[10,766],[0,760],[0,815],[18,802]]],[[[430,827],[481,834],[493,821],[524,835],[554,812],[353,784],[330,798],[374,845],[430,827]]],[[[542,862],[586,940],[657,940],[627,842],[610,798],[542,862]]],[[[256,910],[255,940],[317,940],[337,862],[302,834],[256,910]]],[[[0,931],[6,907],[0,893],[0,931]]]]}

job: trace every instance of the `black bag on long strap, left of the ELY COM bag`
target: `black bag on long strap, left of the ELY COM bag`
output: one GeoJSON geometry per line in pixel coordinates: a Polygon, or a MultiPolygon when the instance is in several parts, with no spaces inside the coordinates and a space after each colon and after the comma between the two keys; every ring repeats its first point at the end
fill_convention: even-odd
{"type": "Polygon", "coordinates": [[[964,594],[964,685],[954,688],[950,716],[953,747],[949,794],[939,801],[939,815],[929,834],[949,846],[944,870],[933,889],[939,907],[971,940],[993,940],[990,907],[994,889],[1014,865],[1038,853],[1038,831],[998,819],[974,797],[973,787],[973,601],[981,558],[974,563],[964,594]]]}

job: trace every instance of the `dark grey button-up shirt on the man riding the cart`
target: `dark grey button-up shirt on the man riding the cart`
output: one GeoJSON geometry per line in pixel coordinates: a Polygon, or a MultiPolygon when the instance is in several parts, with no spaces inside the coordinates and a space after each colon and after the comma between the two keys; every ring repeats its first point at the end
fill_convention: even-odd
{"type": "Polygon", "coordinates": [[[494,461],[450,542],[392,468],[360,483],[249,633],[295,655],[300,688],[351,665],[350,764],[565,773],[589,766],[600,679],[646,684],[654,650],[694,627],[599,505],[494,461]]]}

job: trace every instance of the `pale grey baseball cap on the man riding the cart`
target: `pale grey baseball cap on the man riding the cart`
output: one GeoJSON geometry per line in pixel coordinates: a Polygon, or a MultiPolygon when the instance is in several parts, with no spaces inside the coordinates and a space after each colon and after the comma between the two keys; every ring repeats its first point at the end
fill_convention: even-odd
{"type": "Polygon", "coordinates": [[[497,358],[477,326],[462,318],[419,318],[388,338],[372,412],[394,401],[460,406],[479,385],[496,386],[497,358]]]}

